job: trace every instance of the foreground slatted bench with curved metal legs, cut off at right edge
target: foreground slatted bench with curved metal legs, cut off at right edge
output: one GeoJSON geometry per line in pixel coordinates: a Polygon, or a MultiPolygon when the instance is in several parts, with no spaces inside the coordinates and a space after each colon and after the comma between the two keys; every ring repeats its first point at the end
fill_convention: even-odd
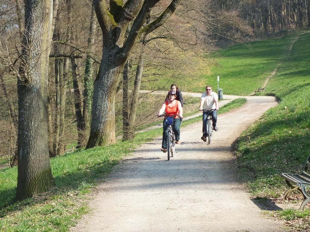
{"type": "Polygon", "coordinates": [[[310,156],[308,157],[308,161],[303,169],[303,172],[297,175],[282,173],[281,177],[283,177],[290,187],[284,194],[283,200],[287,200],[287,195],[293,191],[297,190],[303,195],[303,202],[300,206],[300,210],[305,208],[305,205],[310,201],[310,195],[306,191],[306,187],[310,187],[310,156]]]}

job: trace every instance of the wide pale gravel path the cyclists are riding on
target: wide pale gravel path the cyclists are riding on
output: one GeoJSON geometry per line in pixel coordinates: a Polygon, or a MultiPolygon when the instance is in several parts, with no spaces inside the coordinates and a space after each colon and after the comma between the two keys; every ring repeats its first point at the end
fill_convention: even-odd
{"type": "Polygon", "coordinates": [[[274,97],[246,97],[247,103],[218,115],[219,131],[208,145],[201,122],[181,128],[181,144],[167,161],[158,138],[125,158],[101,183],[92,213],[73,231],[283,231],[261,214],[236,182],[231,144],[268,108],[274,97]]]}

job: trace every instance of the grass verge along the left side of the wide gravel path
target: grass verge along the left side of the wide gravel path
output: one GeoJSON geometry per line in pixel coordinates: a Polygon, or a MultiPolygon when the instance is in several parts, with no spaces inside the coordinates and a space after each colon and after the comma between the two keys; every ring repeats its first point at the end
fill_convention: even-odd
{"type": "MultiPolygon", "coordinates": [[[[219,114],[240,107],[245,98],[223,106],[219,114]]],[[[184,121],[182,127],[201,121],[196,117],[184,121]]],[[[162,128],[138,134],[134,140],[117,144],[77,149],[51,159],[56,187],[51,191],[12,203],[16,193],[17,169],[0,170],[0,231],[69,231],[77,219],[89,211],[88,193],[104,182],[114,165],[137,146],[162,134],[162,128]]]]}

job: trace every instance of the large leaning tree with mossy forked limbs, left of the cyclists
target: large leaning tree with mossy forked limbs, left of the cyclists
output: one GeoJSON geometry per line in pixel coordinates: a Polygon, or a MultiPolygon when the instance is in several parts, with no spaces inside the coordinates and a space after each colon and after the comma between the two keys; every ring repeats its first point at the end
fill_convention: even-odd
{"type": "Polygon", "coordinates": [[[113,144],[115,138],[115,95],[125,63],[135,44],[160,27],[176,10],[180,0],[158,6],[159,0],[109,2],[94,0],[96,16],[102,30],[103,51],[100,69],[94,83],[91,130],[86,148],[113,144]],[[155,6],[156,5],[156,6],[155,6]],[[158,18],[145,24],[157,7],[158,18]],[[125,36],[128,29],[128,36],[125,36]]]}

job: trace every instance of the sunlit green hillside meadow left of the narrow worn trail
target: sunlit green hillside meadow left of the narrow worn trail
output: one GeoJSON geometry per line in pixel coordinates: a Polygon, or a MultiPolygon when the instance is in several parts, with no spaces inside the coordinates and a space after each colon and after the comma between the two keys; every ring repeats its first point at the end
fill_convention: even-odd
{"type": "Polygon", "coordinates": [[[167,84],[177,83],[182,91],[204,92],[206,85],[217,89],[217,76],[219,88],[224,94],[245,96],[262,87],[277,65],[286,58],[290,45],[296,35],[254,41],[250,44],[237,44],[217,54],[208,54],[210,60],[210,74],[202,73],[196,77],[182,76],[178,79],[162,79],[149,81],[144,79],[141,88],[165,90],[167,84]],[[195,83],[195,84],[193,84],[195,83]]]}

